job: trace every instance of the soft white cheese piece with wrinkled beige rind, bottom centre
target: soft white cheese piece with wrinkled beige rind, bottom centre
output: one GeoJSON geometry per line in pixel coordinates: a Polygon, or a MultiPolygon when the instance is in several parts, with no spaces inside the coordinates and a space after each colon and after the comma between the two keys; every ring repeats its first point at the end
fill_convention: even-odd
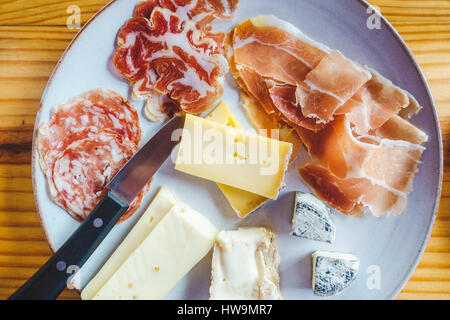
{"type": "Polygon", "coordinates": [[[265,228],[240,228],[217,235],[212,260],[212,300],[282,299],[275,235],[265,228]]]}

